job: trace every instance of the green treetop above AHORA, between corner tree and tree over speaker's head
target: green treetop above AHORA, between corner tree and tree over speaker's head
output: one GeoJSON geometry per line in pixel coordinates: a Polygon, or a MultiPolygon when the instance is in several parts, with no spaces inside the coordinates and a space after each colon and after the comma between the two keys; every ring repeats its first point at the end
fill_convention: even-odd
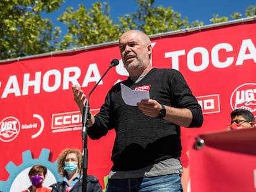
{"type": "Polygon", "coordinates": [[[58,19],[68,26],[68,32],[59,43],[58,49],[117,40],[120,33],[117,24],[110,18],[109,10],[108,2],[95,2],[88,11],[83,4],[80,4],[78,10],[68,7],[58,19]]]}

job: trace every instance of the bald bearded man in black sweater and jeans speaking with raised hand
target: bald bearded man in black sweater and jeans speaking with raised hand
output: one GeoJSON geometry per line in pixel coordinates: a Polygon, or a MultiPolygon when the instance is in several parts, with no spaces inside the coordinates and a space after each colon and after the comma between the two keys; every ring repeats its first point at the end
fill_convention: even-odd
{"type": "MultiPolygon", "coordinates": [[[[106,192],[183,191],[180,127],[201,127],[202,109],[179,71],[151,67],[145,33],[122,34],[119,49],[129,78],[109,90],[100,112],[88,120],[93,140],[116,131],[106,192]],[[126,104],[121,84],[132,90],[147,87],[150,99],[126,104]]],[[[79,86],[72,90],[82,113],[87,98],[79,86]]]]}

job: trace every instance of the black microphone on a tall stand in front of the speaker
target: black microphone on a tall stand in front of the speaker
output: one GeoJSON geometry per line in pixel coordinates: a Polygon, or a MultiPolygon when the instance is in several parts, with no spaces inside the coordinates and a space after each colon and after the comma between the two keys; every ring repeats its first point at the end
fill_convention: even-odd
{"type": "Polygon", "coordinates": [[[82,140],[83,140],[83,151],[82,151],[82,169],[83,169],[83,180],[82,180],[82,191],[87,191],[87,169],[88,169],[88,148],[87,148],[87,128],[88,125],[88,119],[90,119],[90,107],[89,107],[89,98],[93,91],[95,90],[96,86],[100,83],[100,81],[105,77],[106,73],[111,69],[112,67],[119,64],[119,61],[117,59],[113,59],[111,61],[111,64],[106,70],[106,72],[102,75],[100,80],[96,83],[96,85],[93,87],[92,91],[87,96],[87,101],[85,102],[85,106],[83,106],[83,114],[82,114],[82,140]]]}

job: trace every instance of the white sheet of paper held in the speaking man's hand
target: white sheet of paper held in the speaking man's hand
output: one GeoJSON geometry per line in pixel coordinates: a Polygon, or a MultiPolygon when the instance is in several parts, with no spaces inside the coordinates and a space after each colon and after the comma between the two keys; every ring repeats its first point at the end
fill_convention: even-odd
{"type": "Polygon", "coordinates": [[[131,90],[128,86],[121,84],[122,99],[129,106],[137,106],[137,102],[143,99],[149,99],[149,91],[131,90]]]}

